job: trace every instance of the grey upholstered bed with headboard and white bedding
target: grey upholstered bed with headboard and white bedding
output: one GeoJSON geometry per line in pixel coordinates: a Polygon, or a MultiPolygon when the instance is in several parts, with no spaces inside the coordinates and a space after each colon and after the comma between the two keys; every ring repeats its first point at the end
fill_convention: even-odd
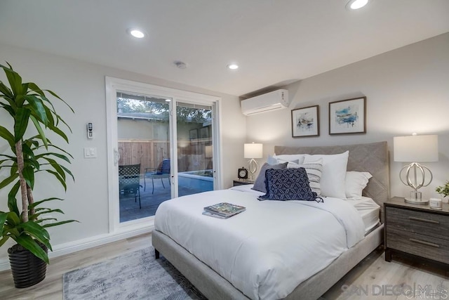
{"type": "MultiPolygon", "coordinates": [[[[296,153],[309,153],[310,155],[335,155],[345,151],[349,151],[349,157],[347,159],[347,171],[369,172],[373,176],[372,178],[370,178],[368,185],[363,190],[363,201],[356,202],[355,204],[350,204],[349,201],[347,201],[347,203],[344,203],[344,205],[352,206],[354,207],[354,209],[350,209],[348,207],[345,209],[340,209],[344,211],[358,211],[358,213],[360,214],[360,217],[358,218],[360,219],[360,221],[358,222],[362,222],[361,226],[363,226],[363,233],[358,232],[349,234],[347,228],[357,228],[359,226],[353,226],[349,224],[349,226],[347,227],[344,227],[343,225],[343,229],[340,229],[337,228],[337,226],[340,226],[341,224],[335,225],[337,224],[335,223],[335,220],[331,221],[335,224],[326,223],[327,228],[336,228],[335,233],[333,233],[332,235],[342,235],[345,237],[347,245],[345,246],[337,240],[329,242],[328,245],[332,246],[329,248],[339,249],[338,251],[340,252],[335,257],[328,256],[328,254],[326,253],[321,254],[321,252],[320,254],[317,254],[320,255],[320,261],[327,260],[327,262],[323,262],[325,266],[321,265],[318,267],[309,267],[304,265],[304,268],[318,268],[316,270],[312,270],[312,275],[308,275],[307,278],[301,278],[301,268],[293,268],[293,266],[297,266],[298,263],[306,263],[307,260],[311,261],[314,258],[316,259],[316,257],[314,256],[309,257],[311,255],[311,249],[300,246],[300,249],[302,249],[301,252],[305,256],[298,255],[296,259],[296,255],[291,255],[291,250],[287,249],[286,247],[282,248],[282,251],[279,251],[279,249],[276,249],[276,247],[274,247],[273,249],[268,249],[267,247],[266,251],[272,251],[270,255],[272,255],[273,253],[276,253],[277,255],[279,254],[279,252],[285,252],[281,253],[281,255],[279,256],[270,256],[276,257],[277,261],[275,261],[274,263],[282,264],[283,257],[285,257],[286,255],[295,258],[293,262],[288,262],[287,267],[289,270],[297,270],[297,274],[291,274],[290,276],[283,274],[276,277],[277,273],[275,271],[272,271],[271,269],[269,271],[264,271],[265,273],[263,273],[264,280],[262,281],[272,282],[278,280],[278,282],[281,282],[280,285],[283,285],[283,282],[287,282],[288,284],[290,284],[290,287],[288,287],[288,294],[282,294],[283,296],[279,296],[280,294],[276,294],[276,291],[272,291],[271,286],[268,289],[265,288],[262,284],[259,285],[257,283],[258,286],[253,287],[254,285],[256,285],[255,280],[258,280],[262,277],[262,273],[260,273],[259,271],[259,265],[264,264],[260,261],[260,263],[257,263],[258,257],[264,257],[264,253],[260,252],[258,249],[263,248],[265,251],[265,248],[257,247],[260,246],[260,243],[262,243],[263,241],[253,242],[253,244],[248,245],[246,241],[252,240],[253,236],[248,236],[245,230],[239,230],[239,228],[243,227],[248,227],[248,230],[251,230],[253,224],[253,226],[261,226],[263,222],[257,223],[257,220],[255,219],[250,219],[255,221],[248,221],[246,219],[243,219],[255,218],[255,215],[260,214],[262,215],[260,219],[265,220],[267,221],[265,223],[268,223],[268,226],[262,226],[260,232],[266,234],[267,236],[270,236],[270,238],[275,237],[275,239],[277,239],[278,236],[282,234],[279,234],[279,231],[270,231],[271,224],[269,223],[269,221],[276,220],[278,216],[270,214],[263,215],[264,210],[259,210],[259,207],[262,206],[262,202],[260,202],[259,204],[255,203],[254,200],[250,199],[250,197],[253,197],[249,195],[250,193],[246,193],[245,191],[241,191],[235,188],[230,190],[208,192],[215,193],[218,197],[216,199],[214,199],[213,196],[208,193],[206,193],[205,195],[196,196],[198,203],[192,204],[193,207],[196,205],[196,209],[201,208],[205,203],[217,202],[219,199],[222,200],[229,198],[232,198],[231,200],[229,200],[229,202],[238,202],[236,204],[243,204],[243,206],[247,207],[247,211],[244,211],[243,213],[231,218],[232,223],[228,223],[228,226],[226,226],[226,229],[224,231],[217,231],[223,229],[214,228],[213,226],[217,224],[217,221],[223,220],[212,220],[213,218],[210,218],[208,216],[203,216],[203,219],[197,219],[196,216],[194,216],[193,214],[188,214],[187,212],[185,213],[185,216],[183,216],[183,210],[187,211],[188,208],[187,206],[182,207],[183,204],[180,201],[185,200],[185,198],[177,198],[173,201],[173,203],[177,201],[177,205],[172,205],[171,207],[168,205],[163,205],[161,211],[159,211],[158,209],[158,212],[156,212],[155,230],[152,234],[152,244],[154,246],[154,249],[156,250],[156,258],[159,256],[159,253],[163,254],[163,256],[165,256],[166,259],[168,259],[168,261],[170,261],[170,263],[175,266],[175,268],[180,270],[180,272],[185,275],[185,277],[190,280],[190,282],[192,282],[192,284],[196,288],[198,288],[206,297],[208,297],[208,299],[317,299],[330,287],[332,287],[338,280],[340,280],[340,278],[342,278],[342,276],[344,276],[349,270],[351,270],[351,268],[354,268],[354,266],[356,266],[358,262],[360,262],[368,254],[370,254],[370,252],[373,252],[373,250],[379,247],[380,244],[382,244],[383,202],[386,201],[389,197],[389,164],[386,142],[327,147],[293,148],[276,146],[274,148],[274,151],[276,155],[291,155],[296,153]],[[241,195],[244,195],[244,197],[242,196],[242,199],[239,199],[237,201],[236,193],[241,193],[241,195]],[[374,201],[375,203],[370,203],[370,200],[374,201]],[[374,208],[377,209],[378,214],[380,214],[380,219],[377,219],[380,220],[380,224],[378,225],[373,225],[373,222],[377,223],[375,221],[375,218],[373,219],[374,208]],[[168,214],[163,214],[164,210],[168,210],[168,214]],[[169,216],[171,216],[173,219],[170,219],[169,216]],[[175,224],[175,226],[170,224],[175,224]],[[248,225],[245,226],[245,224],[248,225]],[[202,226],[202,229],[194,229],[194,226],[196,225],[202,226]],[[172,227],[170,228],[170,226],[172,227]],[[184,228],[187,231],[184,231],[184,233],[182,233],[179,231],[180,228],[184,228]],[[198,242],[198,239],[201,235],[205,235],[205,237],[203,238],[210,238],[211,240],[213,240],[213,238],[215,237],[211,233],[215,232],[220,233],[220,238],[225,241],[223,244],[220,244],[220,239],[215,239],[215,242],[212,242],[210,246],[202,243],[201,247],[199,247],[200,243],[198,242]],[[356,237],[360,234],[362,235],[361,237],[356,237]],[[233,240],[234,238],[236,240],[233,240]],[[216,247],[213,246],[214,244],[217,244],[216,247]],[[249,256],[246,258],[242,258],[240,255],[237,255],[241,253],[240,251],[242,248],[248,247],[250,250],[249,253],[254,253],[253,257],[249,256]],[[346,248],[341,251],[342,247],[346,248]],[[229,251],[229,249],[231,249],[231,251],[229,251]],[[212,251],[213,253],[209,253],[208,251],[212,251]],[[232,265],[224,266],[223,263],[220,263],[220,259],[222,256],[224,257],[226,255],[231,255],[229,254],[229,252],[235,252],[231,253],[232,256],[228,257],[228,259],[233,260],[232,265]],[[215,259],[215,257],[220,259],[215,259]],[[257,265],[257,268],[254,267],[255,265],[257,265]],[[257,271],[253,271],[254,269],[257,269],[257,271]],[[300,282],[292,287],[291,285],[293,283],[288,280],[289,277],[295,277],[295,280],[297,280],[297,278],[300,278],[300,282]],[[244,284],[242,282],[244,282],[244,284]]],[[[338,201],[340,201],[338,203],[344,202],[344,200],[338,201]]],[[[274,206],[276,204],[270,202],[272,201],[263,202],[263,206],[271,207],[270,209],[273,209],[273,211],[276,210],[277,208],[274,209],[274,206]]],[[[334,202],[337,203],[337,200],[333,200],[332,198],[325,198],[325,202],[326,207],[341,207],[340,204],[333,205],[334,202]]],[[[295,209],[297,209],[297,207],[301,207],[301,211],[305,212],[300,219],[306,220],[307,211],[309,211],[309,209],[315,209],[313,213],[309,214],[313,214],[314,218],[319,219],[321,218],[322,214],[327,214],[327,212],[316,212],[319,210],[323,210],[322,207],[316,209],[317,205],[319,204],[312,202],[300,204],[289,203],[288,208],[284,208],[281,213],[285,214],[284,219],[288,221],[293,218],[292,216],[288,215],[290,211],[294,211],[295,209]]],[[[284,207],[286,206],[284,205],[284,207]]],[[[227,219],[226,221],[231,219],[227,219]]],[[[288,228],[292,227],[291,224],[293,223],[289,224],[290,225],[288,226],[288,228]]],[[[297,228],[294,228],[293,226],[293,230],[297,230],[297,228]]],[[[250,232],[250,234],[253,233],[254,231],[250,232]]],[[[326,238],[331,239],[333,238],[333,236],[328,236],[326,238]]],[[[281,240],[274,241],[275,242],[270,242],[270,247],[272,244],[283,243],[281,240]]],[[[321,241],[321,243],[323,242],[321,241]]],[[[333,255],[335,255],[335,253],[333,255]]]]}

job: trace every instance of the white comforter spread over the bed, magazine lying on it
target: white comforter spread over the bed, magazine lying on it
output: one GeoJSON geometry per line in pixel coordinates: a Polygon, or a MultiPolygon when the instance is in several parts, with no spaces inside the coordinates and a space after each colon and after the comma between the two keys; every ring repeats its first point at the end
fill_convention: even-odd
{"type": "Polygon", "coordinates": [[[251,299],[284,298],[363,238],[361,216],[344,200],[261,202],[257,195],[215,190],[168,200],[154,225],[251,299]],[[246,211],[202,215],[219,202],[246,211]]]}

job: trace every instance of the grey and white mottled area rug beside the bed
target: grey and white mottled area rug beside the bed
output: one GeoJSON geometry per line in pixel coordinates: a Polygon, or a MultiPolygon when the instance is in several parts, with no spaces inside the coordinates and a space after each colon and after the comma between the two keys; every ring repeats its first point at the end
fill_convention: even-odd
{"type": "Polygon", "coordinates": [[[153,247],[65,273],[62,289],[65,300],[206,299],[153,247]]]}

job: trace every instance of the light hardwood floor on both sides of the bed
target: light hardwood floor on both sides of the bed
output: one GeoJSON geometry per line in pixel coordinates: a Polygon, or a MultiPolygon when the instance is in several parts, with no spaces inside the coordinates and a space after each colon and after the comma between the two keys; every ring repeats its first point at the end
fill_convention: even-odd
{"type": "MultiPolygon", "coordinates": [[[[0,299],[62,299],[62,274],[149,245],[151,235],[147,234],[51,259],[46,279],[25,289],[15,289],[11,271],[1,272],[0,299]]],[[[321,299],[449,299],[449,269],[410,257],[394,256],[393,261],[388,263],[384,261],[382,249],[377,249],[330,288],[321,299]],[[423,289],[427,287],[429,292],[438,285],[443,285],[448,294],[445,298],[394,295],[401,292],[401,287],[406,285],[419,285],[423,289]],[[344,292],[342,287],[354,293],[344,292]]]]}

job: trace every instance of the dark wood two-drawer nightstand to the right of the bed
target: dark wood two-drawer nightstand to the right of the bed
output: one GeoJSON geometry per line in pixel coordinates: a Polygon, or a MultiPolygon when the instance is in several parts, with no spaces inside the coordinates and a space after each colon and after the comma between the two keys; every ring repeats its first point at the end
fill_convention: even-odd
{"type": "Polygon", "coordinates": [[[449,263],[449,204],[442,210],[429,204],[409,204],[394,197],[384,203],[385,261],[399,251],[449,263]]]}

